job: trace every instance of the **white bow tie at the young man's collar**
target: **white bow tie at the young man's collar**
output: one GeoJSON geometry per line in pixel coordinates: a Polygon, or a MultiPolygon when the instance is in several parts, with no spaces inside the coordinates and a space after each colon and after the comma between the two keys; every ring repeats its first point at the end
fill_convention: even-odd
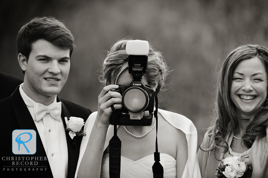
{"type": "Polygon", "coordinates": [[[35,120],[40,121],[49,113],[54,119],[60,120],[61,114],[61,102],[55,103],[52,106],[45,106],[41,103],[34,103],[34,110],[35,110],[35,120]]]}

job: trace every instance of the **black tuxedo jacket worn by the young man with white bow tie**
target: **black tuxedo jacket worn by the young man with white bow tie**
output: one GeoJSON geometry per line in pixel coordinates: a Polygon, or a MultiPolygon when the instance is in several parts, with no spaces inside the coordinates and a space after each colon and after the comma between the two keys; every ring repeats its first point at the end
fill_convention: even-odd
{"type": "MultiPolygon", "coordinates": [[[[61,111],[61,118],[63,119],[64,128],[66,128],[66,122],[64,117],[80,117],[86,121],[88,116],[91,114],[91,111],[85,107],[82,107],[78,104],[72,103],[67,100],[63,100],[57,97],[57,102],[62,103],[62,111],[61,111]]],[[[53,177],[52,171],[49,166],[48,160],[39,160],[37,166],[42,167],[22,167],[22,165],[16,165],[16,160],[18,161],[18,157],[22,159],[24,158],[24,162],[27,160],[26,157],[46,157],[46,152],[43,147],[41,138],[38,134],[38,130],[35,126],[35,123],[32,119],[32,116],[25,105],[21,94],[19,92],[19,86],[15,90],[15,92],[8,98],[0,100],[0,116],[1,116],[1,169],[5,175],[10,175],[10,177],[53,177]],[[33,129],[36,131],[36,153],[34,155],[15,155],[12,152],[12,132],[15,129],[33,129]],[[13,158],[12,158],[13,157],[13,158]],[[12,160],[13,159],[13,160],[12,160]],[[15,162],[15,165],[14,163],[15,162]],[[13,167],[11,167],[13,166],[13,167]],[[16,166],[16,167],[15,167],[16,166]],[[4,169],[5,168],[5,169],[4,169]],[[9,170],[8,170],[9,168],[9,170]],[[13,168],[13,171],[12,171],[13,168]],[[16,170],[17,168],[17,170],[16,170]],[[20,171],[20,168],[22,170],[20,171]],[[26,171],[24,171],[26,168],[26,171]],[[37,170],[38,168],[38,170],[37,170]],[[42,171],[40,168],[43,168],[42,171]],[[45,171],[46,168],[46,171],[45,171]]],[[[82,127],[84,130],[84,126],[82,127]]],[[[75,175],[79,151],[80,151],[80,144],[82,141],[82,136],[75,136],[72,140],[66,132],[66,140],[68,146],[68,178],[73,178],[75,175]],[[74,143],[74,140],[76,142],[74,143]]],[[[29,160],[28,162],[30,162],[29,160]]],[[[21,160],[18,161],[19,164],[21,160]]],[[[24,163],[23,163],[24,164],[24,163]]],[[[25,165],[24,165],[25,166],[25,165]]],[[[3,175],[3,174],[2,174],[3,175]]]]}

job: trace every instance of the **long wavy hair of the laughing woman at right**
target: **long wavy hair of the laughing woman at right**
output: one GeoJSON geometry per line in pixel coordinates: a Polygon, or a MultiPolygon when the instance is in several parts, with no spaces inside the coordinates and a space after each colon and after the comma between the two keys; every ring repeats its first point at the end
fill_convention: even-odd
{"type": "MultiPolygon", "coordinates": [[[[225,148],[228,151],[228,143],[225,141],[227,132],[235,130],[238,127],[238,120],[248,120],[248,118],[239,117],[236,114],[236,107],[230,98],[232,86],[233,71],[242,61],[257,57],[263,63],[268,74],[268,51],[260,45],[243,45],[231,51],[226,57],[223,66],[219,72],[218,82],[216,84],[216,98],[213,105],[211,126],[208,128],[210,145],[203,151],[216,151],[216,149],[225,148]]],[[[267,106],[267,105],[265,105],[267,106]]],[[[255,114],[253,121],[247,126],[242,136],[244,144],[251,148],[255,139],[266,136],[266,127],[268,125],[268,109],[261,107],[261,111],[255,114]]]]}

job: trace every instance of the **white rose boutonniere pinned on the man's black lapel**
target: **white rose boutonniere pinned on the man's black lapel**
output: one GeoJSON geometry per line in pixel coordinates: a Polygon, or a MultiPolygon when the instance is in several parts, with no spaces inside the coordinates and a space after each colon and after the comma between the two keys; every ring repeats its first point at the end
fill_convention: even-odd
{"type": "Polygon", "coordinates": [[[83,125],[85,125],[84,119],[80,117],[64,117],[67,128],[65,130],[69,131],[69,135],[71,139],[75,136],[86,136],[84,131],[82,130],[83,125]]]}

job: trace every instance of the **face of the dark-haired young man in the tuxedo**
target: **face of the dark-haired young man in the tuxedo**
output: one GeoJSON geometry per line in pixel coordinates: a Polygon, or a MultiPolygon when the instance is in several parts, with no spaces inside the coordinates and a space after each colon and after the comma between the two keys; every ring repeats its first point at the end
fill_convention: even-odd
{"type": "Polygon", "coordinates": [[[63,50],[40,39],[32,44],[28,62],[25,62],[23,88],[36,96],[53,96],[64,86],[70,70],[70,50],[63,50]]]}

